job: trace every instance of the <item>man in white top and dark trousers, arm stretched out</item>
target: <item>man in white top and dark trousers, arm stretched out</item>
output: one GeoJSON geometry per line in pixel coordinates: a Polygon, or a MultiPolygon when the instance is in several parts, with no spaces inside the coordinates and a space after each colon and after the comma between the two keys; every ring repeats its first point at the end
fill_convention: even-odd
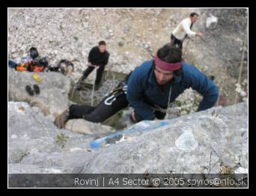
{"type": "Polygon", "coordinates": [[[178,46],[182,49],[183,41],[186,39],[187,36],[194,37],[194,36],[202,36],[200,32],[191,31],[192,25],[198,20],[198,13],[190,13],[189,17],[183,19],[174,31],[171,32],[171,44],[173,46],[178,46]]]}

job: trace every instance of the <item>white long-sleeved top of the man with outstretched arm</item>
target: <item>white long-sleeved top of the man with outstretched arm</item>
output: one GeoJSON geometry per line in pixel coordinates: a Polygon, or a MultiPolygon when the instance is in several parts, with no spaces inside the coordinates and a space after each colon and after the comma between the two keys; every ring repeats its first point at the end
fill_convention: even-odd
{"type": "Polygon", "coordinates": [[[180,22],[179,25],[174,29],[174,31],[171,32],[171,34],[174,35],[178,40],[183,41],[186,34],[189,37],[195,36],[195,32],[190,30],[190,25],[192,24],[190,18],[183,19],[183,21],[180,22]]]}

